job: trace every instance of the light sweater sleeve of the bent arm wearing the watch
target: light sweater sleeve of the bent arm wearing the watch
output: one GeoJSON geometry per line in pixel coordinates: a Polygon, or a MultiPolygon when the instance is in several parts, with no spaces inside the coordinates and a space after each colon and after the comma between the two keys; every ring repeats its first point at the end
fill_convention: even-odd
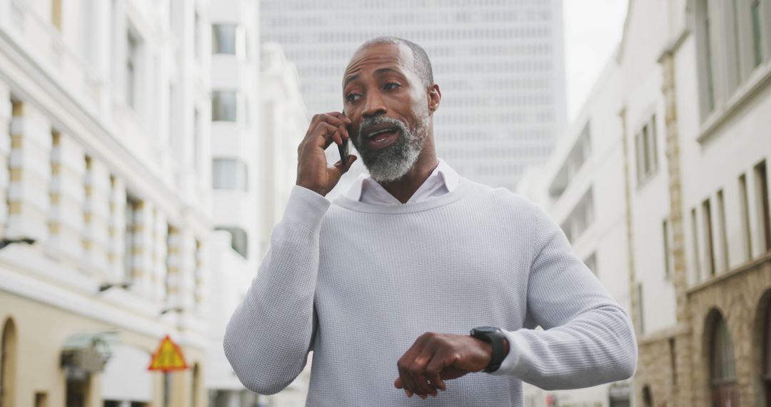
{"type": "Polygon", "coordinates": [[[577,389],[630,378],[637,366],[631,321],[571,253],[563,231],[536,209],[526,324],[505,332],[510,352],[495,375],[541,389],[577,389]]]}

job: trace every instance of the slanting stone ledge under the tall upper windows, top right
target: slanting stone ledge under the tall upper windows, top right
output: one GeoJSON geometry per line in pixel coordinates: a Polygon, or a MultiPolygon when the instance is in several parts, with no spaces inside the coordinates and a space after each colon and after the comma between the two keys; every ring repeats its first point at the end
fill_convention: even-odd
{"type": "Polygon", "coordinates": [[[702,122],[701,130],[696,141],[705,143],[726,121],[736,113],[739,108],[746,105],[753,96],[756,96],[766,85],[771,82],[771,60],[758,66],[736,92],[728,99],[728,102],[709,113],[702,122]]]}

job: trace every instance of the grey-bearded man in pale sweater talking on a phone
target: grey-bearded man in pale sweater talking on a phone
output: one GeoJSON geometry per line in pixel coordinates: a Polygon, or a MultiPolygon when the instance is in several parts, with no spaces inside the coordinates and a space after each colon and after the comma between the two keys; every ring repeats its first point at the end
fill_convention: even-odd
{"type": "Polygon", "coordinates": [[[227,327],[248,389],[284,389],[311,350],[308,405],[523,405],[523,381],[633,375],[629,318],[561,229],[437,160],[441,92],[423,49],[366,42],[343,99],[344,113],[311,120],[284,218],[227,327]],[[370,177],[331,203],[355,156],[329,166],[324,152],[348,139],[370,177]]]}

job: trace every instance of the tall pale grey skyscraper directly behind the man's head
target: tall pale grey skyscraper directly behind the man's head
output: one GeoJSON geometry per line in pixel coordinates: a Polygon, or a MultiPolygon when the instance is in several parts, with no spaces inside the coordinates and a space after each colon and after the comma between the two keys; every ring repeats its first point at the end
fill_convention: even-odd
{"type": "Polygon", "coordinates": [[[295,62],[308,113],[342,107],[342,72],[367,39],[423,46],[443,93],[439,156],[463,176],[513,189],[565,122],[562,2],[263,0],[261,40],[295,62]]]}

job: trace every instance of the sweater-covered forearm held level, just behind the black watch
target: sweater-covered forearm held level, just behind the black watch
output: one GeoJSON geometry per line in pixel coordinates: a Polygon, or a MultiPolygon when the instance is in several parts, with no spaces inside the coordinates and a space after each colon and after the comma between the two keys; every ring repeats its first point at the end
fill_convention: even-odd
{"type": "Polygon", "coordinates": [[[547,331],[507,332],[510,352],[496,375],[514,375],[541,389],[577,389],[624,380],[637,365],[635,333],[615,304],[587,311],[547,331]]]}

